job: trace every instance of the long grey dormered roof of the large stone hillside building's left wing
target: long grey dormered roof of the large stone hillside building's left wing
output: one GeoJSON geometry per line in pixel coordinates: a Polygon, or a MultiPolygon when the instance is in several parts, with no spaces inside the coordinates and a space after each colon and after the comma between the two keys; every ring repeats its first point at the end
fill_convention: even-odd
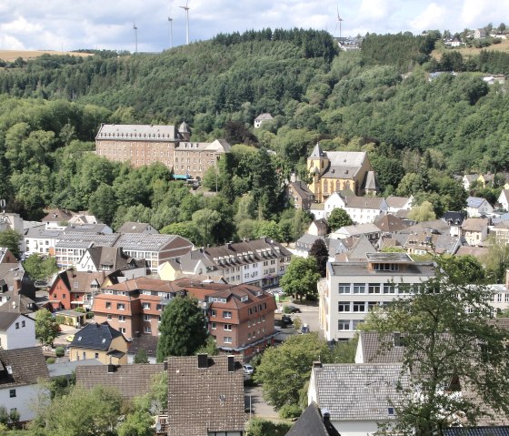
{"type": "Polygon", "coordinates": [[[104,124],[96,140],[175,142],[180,139],[175,126],[104,124]]]}

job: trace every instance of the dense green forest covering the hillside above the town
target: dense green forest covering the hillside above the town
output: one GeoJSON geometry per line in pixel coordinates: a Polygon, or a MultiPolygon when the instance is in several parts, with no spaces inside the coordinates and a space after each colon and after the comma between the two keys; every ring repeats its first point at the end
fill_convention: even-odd
{"type": "Polygon", "coordinates": [[[438,216],[463,208],[454,175],[509,170],[507,86],[481,78],[509,73],[509,55],[435,60],[437,37],[367,35],[362,50],[339,52],[325,32],[265,29],[160,55],[20,62],[0,70],[0,196],[25,218],[47,206],[90,208],[114,227],[150,221],[198,243],[292,240],[309,218],[284,203],[284,181],[305,179],[320,141],[367,151],[384,194],[429,200],[438,216]],[[449,73],[432,79],[436,70],[449,73]],[[252,128],[263,112],[274,121],[252,128]],[[245,144],[205,177],[215,198],[189,193],[162,166],[133,169],[92,153],[101,123],[183,120],[195,140],[245,144]],[[206,234],[203,222],[212,223],[206,234]]]}

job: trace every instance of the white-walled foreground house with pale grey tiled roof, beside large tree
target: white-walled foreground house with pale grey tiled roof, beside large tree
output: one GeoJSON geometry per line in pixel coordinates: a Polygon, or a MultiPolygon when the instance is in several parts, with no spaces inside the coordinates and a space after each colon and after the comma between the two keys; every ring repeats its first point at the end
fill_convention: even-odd
{"type": "Polygon", "coordinates": [[[409,386],[401,364],[314,362],[307,399],[329,412],[342,436],[359,436],[374,434],[379,422],[394,421],[395,408],[404,401],[399,388],[409,386]]]}

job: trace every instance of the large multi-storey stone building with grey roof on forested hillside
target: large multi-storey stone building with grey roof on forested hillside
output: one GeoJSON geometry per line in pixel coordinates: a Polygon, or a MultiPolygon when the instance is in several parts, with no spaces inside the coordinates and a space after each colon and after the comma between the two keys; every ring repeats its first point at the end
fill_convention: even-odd
{"type": "Polygon", "coordinates": [[[191,142],[190,135],[185,123],[178,130],[175,126],[102,125],[95,137],[95,153],[134,167],[161,162],[177,176],[203,178],[230,145],[224,139],[191,142]]]}

